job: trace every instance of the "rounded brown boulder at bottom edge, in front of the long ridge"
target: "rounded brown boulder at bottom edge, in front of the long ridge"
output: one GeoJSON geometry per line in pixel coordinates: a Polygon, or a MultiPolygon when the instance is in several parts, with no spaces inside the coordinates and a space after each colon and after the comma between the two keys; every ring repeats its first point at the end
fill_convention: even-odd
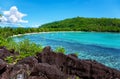
{"type": "Polygon", "coordinates": [[[42,79],[67,79],[67,76],[58,70],[56,66],[46,63],[36,64],[30,74],[30,79],[35,76],[42,77],[42,79]]]}

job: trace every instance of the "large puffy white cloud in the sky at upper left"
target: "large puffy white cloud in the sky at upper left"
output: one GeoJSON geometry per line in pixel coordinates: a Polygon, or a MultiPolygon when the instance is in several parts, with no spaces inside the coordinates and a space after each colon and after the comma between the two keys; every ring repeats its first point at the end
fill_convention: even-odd
{"type": "Polygon", "coordinates": [[[18,11],[16,6],[12,6],[9,11],[3,11],[3,16],[0,18],[3,23],[28,23],[22,18],[27,16],[18,11]]]}

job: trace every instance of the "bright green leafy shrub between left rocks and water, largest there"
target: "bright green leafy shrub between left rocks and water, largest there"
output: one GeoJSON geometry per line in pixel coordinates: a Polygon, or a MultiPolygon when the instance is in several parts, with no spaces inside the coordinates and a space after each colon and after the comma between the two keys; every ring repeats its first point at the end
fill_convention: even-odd
{"type": "Polygon", "coordinates": [[[15,51],[18,51],[19,53],[24,52],[32,55],[34,55],[36,52],[41,52],[43,49],[42,46],[30,42],[27,39],[21,42],[15,42],[11,40],[6,46],[8,49],[15,49],[15,51]]]}

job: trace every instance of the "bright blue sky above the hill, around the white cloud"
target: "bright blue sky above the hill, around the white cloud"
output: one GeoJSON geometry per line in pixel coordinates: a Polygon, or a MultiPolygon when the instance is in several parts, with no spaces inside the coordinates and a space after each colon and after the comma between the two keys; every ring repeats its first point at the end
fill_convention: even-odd
{"type": "Polygon", "coordinates": [[[120,0],[0,0],[0,13],[13,6],[24,16],[12,25],[25,27],[77,16],[120,18],[120,0]]]}

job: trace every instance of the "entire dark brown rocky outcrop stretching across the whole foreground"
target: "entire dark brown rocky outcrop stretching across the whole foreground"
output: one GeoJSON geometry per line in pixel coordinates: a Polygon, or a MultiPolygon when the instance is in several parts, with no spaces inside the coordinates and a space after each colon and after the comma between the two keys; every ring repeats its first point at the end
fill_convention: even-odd
{"type": "Polygon", "coordinates": [[[35,57],[24,58],[15,65],[8,65],[2,59],[0,79],[120,79],[118,70],[96,61],[78,59],[75,54],[55,53],[49,46],[35,57]]]}

